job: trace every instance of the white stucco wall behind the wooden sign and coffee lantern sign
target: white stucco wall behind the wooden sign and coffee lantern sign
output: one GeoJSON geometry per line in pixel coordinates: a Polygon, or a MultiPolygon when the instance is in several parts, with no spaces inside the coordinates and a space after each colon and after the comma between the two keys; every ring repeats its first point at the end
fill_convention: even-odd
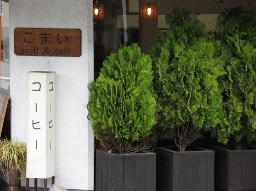
{"type": "MultiPolygon", "coordinates": [[[[94,189],[94,137],[87,120],[88,82],[93,80],[91,0],[9,0],[11,137],[27,140],[27,72],[56,72],[55,184],[94,189]],[[82,31],[80,57],[17,56],[15,28],[63,28],[82,31]]],[[[30,186],[33,186],[30,180],[30,186]]],[[[48,180],[48,187],[51,180],[48,180]]],[[[43,180],[38,180],[43,187],[43,180]]],[[[25,185],[23,181],[22,185],[25,185]]]]}

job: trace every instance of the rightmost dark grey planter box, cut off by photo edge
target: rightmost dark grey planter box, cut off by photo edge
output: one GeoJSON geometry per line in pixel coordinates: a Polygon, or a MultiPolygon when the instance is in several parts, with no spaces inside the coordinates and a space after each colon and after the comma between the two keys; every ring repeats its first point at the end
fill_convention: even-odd
{"type": "Polygon", "coordinates": [[[256,190],[256,146],[249,150],[229,150],[221,145],[215,151],[215,186],[223,190],[256,190]]]}

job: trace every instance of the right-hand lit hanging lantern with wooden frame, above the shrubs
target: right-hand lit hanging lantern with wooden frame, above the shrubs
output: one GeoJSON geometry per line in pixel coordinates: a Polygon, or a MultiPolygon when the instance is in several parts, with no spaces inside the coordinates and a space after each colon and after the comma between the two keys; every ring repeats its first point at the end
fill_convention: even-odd
{"type": "Polygon", "coordinates": [[[148,2],[141,5],[141,20],[156,20],[157,18],[157,3],[148,2]]]}

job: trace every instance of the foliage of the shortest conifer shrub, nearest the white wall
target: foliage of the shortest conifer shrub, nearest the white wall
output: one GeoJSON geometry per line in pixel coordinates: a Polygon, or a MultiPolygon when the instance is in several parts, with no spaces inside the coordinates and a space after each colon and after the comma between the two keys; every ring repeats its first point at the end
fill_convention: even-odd
{"type": "Polygon", "coordinates": [[[151,134],[156,107],[152,80],[152,60],[136,44],[104,61],[98,79],[88,85],[89,118],[103,145],[125,153],[133,141],[151,134]]]}

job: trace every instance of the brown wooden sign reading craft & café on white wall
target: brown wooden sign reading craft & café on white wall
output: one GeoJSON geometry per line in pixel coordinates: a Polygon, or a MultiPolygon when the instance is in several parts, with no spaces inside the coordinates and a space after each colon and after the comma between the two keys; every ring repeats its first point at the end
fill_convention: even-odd
{"type": "Polygon", "coordinates": [[[14,53],[19,56],[81,56],[80,29],[14,29],[14,53]]]}

